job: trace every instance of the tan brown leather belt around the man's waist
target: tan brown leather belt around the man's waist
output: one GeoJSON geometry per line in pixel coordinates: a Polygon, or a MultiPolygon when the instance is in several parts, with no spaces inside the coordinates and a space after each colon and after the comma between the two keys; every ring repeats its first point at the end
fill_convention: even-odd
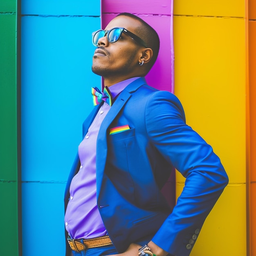
{"type": "Polygon", "coordinates": [[[101,236],[97,238],[90,239],[72,239],[70,237],[67,238],[67,242],[70,245],[70,248],[75,252],[81,252],[88,248],[95,248],[104,245],[112,245],[112,242],[109,236],[101,236]]]}

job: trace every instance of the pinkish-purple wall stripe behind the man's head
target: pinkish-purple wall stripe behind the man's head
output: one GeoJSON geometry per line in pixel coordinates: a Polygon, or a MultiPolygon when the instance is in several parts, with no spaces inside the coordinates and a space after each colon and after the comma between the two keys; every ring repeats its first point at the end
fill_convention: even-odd
{"type": "Polygon", "coordinates": [[[145,20],[157,31],[160,38],[159,56],[146,80],[157,89],[173,92],[173,1],[102,0],[101,8],[102,28],[105,28],[118,13],[130,12],[145,20]]]}

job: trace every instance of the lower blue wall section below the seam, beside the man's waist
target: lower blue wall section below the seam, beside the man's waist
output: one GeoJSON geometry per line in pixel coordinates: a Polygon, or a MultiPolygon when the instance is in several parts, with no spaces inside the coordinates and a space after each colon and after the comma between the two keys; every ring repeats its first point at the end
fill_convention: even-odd
{"type": "Polygon", "coordinates": [[[22,184],[22,255],[64,256],[65,183],[22,184]]]}

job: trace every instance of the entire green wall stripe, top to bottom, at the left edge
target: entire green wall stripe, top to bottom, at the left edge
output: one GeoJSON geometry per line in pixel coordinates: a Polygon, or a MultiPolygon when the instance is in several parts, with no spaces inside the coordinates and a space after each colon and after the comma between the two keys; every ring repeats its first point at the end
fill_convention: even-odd
{"type": "Polygon", "coordinates": [[[0,1],[0,255],[19,255],[16,0],[0,1]]]}

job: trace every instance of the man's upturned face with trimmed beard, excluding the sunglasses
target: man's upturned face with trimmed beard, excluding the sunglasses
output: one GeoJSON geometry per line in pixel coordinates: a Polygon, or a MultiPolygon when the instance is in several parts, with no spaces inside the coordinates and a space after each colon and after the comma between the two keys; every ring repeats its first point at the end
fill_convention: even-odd
{"type": "MultiPolygon", "coordinates": [[[[139,25],[139,21],[133,18],[118,16],[109,22],[105,30],[112,29],[113,27],[124,27],[132,33],[137,34],[135,28],[139,27],[139,25]]],[[[92,71],[95,74],[104,78],[129,78],[139,68],[138,49],[143,46],[138,45],[126,33],[123,33],[121,38],[115,43],[109,43],[107,36],[104,36],[99,39],[98,44],[99,49],[96,49],[92,58],[92,71]]]]}

